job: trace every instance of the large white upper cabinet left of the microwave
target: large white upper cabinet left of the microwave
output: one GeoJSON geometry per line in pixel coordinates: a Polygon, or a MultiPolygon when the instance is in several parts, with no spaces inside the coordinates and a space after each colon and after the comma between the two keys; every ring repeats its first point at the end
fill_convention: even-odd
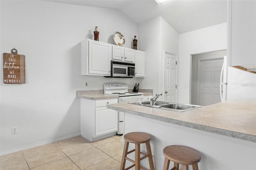
{"type": "Polygon", "coordinates": [[[81,75],[110,75],[112,45],[94,40],[81,42],[81,75]]]}

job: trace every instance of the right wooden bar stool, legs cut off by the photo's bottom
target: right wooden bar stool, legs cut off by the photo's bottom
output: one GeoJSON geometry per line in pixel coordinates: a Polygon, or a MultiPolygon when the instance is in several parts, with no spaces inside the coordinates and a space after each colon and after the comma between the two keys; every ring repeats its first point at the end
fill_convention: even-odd
{"type": "Polygon", "coordinates": [[[170,160],[174,162],[171,170],[179,170],[179,164],[182,164],[182,170],[188,170],[188,165],[192,165],[193,170],[198,170],[198,162],[201,160],[200,153],[188,146],[171,145],[166,146],[163,150],[164,168],[168,170],[170,160]]]}

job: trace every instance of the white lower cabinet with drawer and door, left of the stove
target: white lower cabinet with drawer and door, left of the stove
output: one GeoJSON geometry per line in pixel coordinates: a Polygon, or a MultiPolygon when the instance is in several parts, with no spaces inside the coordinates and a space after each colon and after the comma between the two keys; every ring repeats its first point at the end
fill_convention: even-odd
{"type": "Polygon", "coordinates": [[[118,131],[118,111],[108,109],[107,104],[118,103],[118,99],[81,99],[81,135],[93,142],[118,131]]]}

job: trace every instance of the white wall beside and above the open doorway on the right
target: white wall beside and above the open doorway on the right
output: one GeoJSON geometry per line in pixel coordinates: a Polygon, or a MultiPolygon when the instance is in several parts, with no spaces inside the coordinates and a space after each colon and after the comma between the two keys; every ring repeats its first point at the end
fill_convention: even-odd
{"type": "Polygon", "coordinates": [[[191,55],[226,48],[227,23],[179,35],[178,103],[190,103],[191,55]]]}

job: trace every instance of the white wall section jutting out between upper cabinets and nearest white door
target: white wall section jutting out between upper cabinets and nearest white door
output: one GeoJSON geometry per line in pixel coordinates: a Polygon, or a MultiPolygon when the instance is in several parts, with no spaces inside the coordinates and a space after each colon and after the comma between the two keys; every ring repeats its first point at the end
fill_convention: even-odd
{"type": "Polygon", "coordinates": [[[146,51],[146,77],[142,85],[155,94],[163,93],[164,51],[178,54],[179,34],[160,16],[139,24],[138,34],[140,46],[146,51]]]}

